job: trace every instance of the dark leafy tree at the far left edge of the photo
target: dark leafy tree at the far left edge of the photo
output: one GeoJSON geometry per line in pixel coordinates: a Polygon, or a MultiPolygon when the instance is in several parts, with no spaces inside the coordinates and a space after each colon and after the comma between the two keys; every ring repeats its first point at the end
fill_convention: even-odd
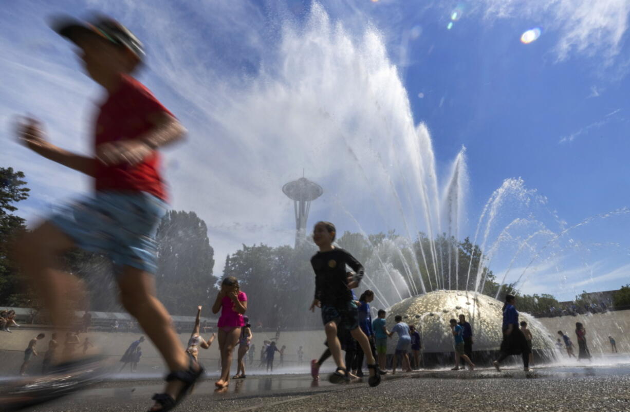
{"type": "Polygon", "coordinates": [[[14,203],[28,198],[24,173],[13,168],[0,168],[0,302],[18,306],[28,295],[21,289],[20,278],[13,261],[9,258],[10,245],[20,232],[26,230],[25,220],[13,214],[14,203]]]}

